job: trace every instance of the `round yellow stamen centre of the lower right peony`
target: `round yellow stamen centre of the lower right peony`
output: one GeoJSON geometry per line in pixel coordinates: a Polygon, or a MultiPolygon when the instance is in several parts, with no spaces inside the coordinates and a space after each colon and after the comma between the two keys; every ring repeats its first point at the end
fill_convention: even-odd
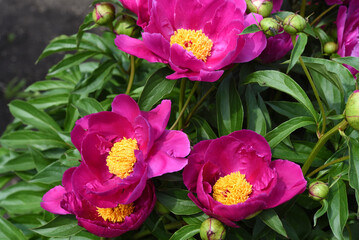
{"type": "Polygon", "coordinates": [[[219,178],[213,186],[213,199],[224,205],[245,202],[251,193],[252,185],[239,171],[219,178]]]}

